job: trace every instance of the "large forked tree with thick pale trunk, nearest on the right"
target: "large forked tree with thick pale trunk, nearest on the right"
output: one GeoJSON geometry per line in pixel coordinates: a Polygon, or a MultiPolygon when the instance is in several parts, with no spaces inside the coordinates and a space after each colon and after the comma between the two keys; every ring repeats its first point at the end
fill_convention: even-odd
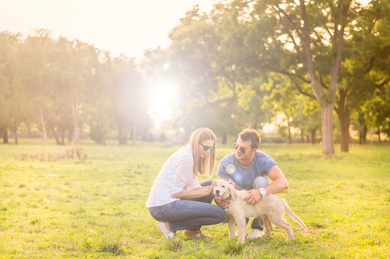
{"type": "Polygon", "coordinates": [[[253,38],[248,47],[254,51],[257,64],[310,82],[321,107],[323,154],[334,154],[332,112],[344,37],[354,18],[351,1],[253,3],[253,32],[249,35],[253,38]]]}

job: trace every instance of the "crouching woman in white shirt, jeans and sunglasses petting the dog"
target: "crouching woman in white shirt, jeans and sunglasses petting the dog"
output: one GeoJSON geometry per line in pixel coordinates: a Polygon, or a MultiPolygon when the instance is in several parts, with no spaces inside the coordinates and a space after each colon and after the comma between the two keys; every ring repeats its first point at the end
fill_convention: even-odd
{"type": "Polygon", "coordinates": [[[212,205],[213,180],[198,182],[198,174],[213,176],[215,134],[199,128],[189,143],[171,155],[162,166],[150,191],[146,207],[167,239],[177,230],[190,238],[211,237],[200,231],[202,225],[221,223],[223,208],[212,205]]]}

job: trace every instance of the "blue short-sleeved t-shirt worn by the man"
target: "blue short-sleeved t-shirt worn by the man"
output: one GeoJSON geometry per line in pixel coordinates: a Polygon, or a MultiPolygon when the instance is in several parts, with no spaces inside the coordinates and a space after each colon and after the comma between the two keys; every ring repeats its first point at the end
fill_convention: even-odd
{"type": "Polygon", "coordinates": [[[235,183],[235,189],[237,190],[252,190],[254,179],[259,176],[268,177],[268,173],[270,173],[274,165],[277,165],[277,163],[270,155],[256,151],[252,164],[245,167],[237,160],[234,152],[221,159],[217,175],[231,179],[235,183]],[[235,172],[232,174],[226,172],[226,167],[230,164],[235,166],[235,172]]]}

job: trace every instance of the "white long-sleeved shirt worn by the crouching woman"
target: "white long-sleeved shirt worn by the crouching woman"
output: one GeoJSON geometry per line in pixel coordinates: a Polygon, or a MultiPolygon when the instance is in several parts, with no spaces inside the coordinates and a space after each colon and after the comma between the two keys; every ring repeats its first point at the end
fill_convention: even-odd
{"type": "Polygon", "coordinates": [[[185,190],[193,190],[200,187],[198,177],[194,173],[194,158],[189,144],[183,146],[172,154],[162,165],[146,207],[156,207],[174,202],[172,195],[185,190]]]}

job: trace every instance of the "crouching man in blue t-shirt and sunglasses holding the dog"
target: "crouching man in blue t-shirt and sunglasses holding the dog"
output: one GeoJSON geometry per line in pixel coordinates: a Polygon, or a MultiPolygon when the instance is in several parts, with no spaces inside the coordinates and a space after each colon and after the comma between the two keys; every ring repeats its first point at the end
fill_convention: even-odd
{"type": "MultiPolygon", "coordinates": [[[[235,152],[222,158],[217,170],[217,179],[228,182],[231,179],[233,182],[229,183],[234,184],[236,190],[248,190],[245,200],[253,205],[266,198],[268,194],[279,193],[289,188],[286,177],[272,157],[257,151],[260,141],[258,132],[254,129],[244,130],[238,134],[237,142],[234,143],[235,152]],[[268,177],[273,180],[271,184],[268,177]]],[[[229,200],[230,198],[215,203],[227,208],[229,200]]],[[[253,220],[252,231],[247,239],[263,236],[264,223],[259,217],[253,220]]]]}

